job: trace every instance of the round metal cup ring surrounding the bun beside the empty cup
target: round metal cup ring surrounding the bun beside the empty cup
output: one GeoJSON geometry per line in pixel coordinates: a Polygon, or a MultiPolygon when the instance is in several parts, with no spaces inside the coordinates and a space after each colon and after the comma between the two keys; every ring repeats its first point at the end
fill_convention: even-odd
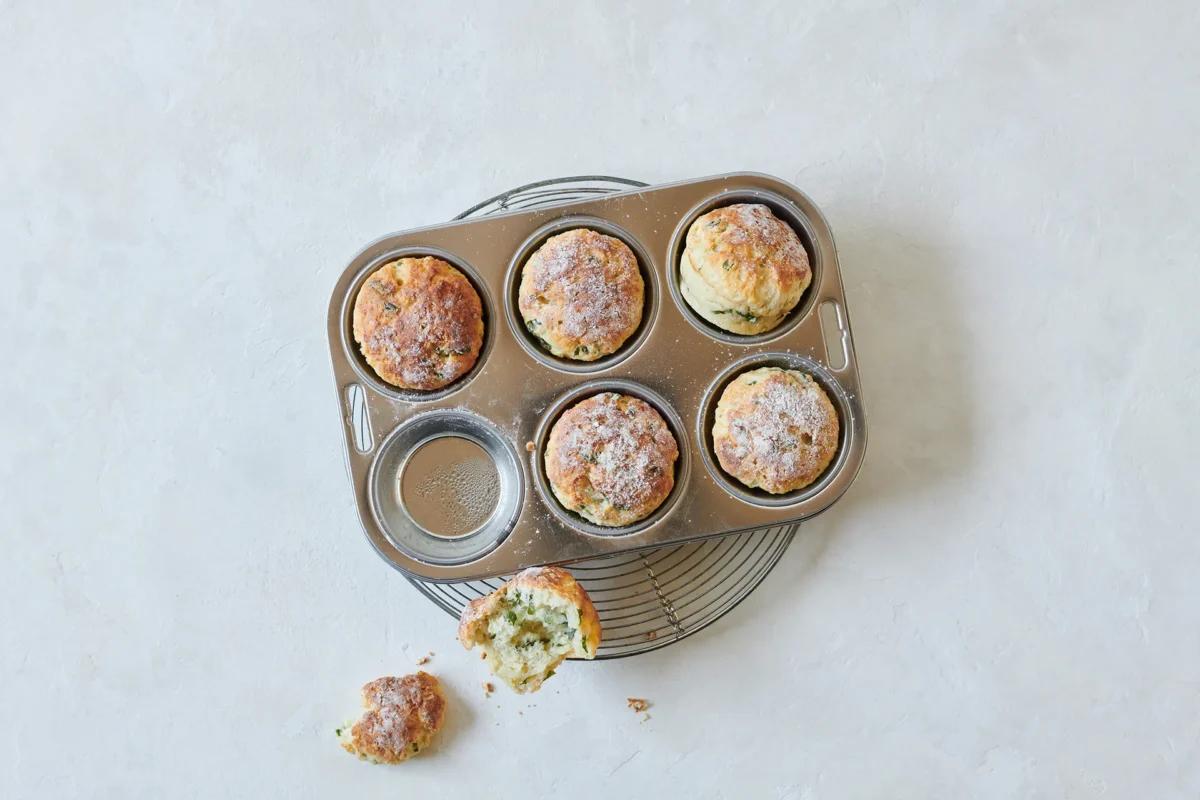
{"type": "Polygon", "coordinates": [[[534,487],[536,488],[542,504],[559,519],[559,522],[577,533],[586,534],[588,536],[602,536],[605,539],[622,537],[644,533],[646,530],[660,524],[668,516],[671,516],[671,512],[679,504],[679,500],[683,497],[691,477],[691,447],[688,439],[688,428],[683,422],[683,417],[679,416],[679,413],[674,410],[674,407],[659,392],[640,381],[628,378],[596,378],[571,386],[566,391],[559,393],[538,415],[538,425],[534,428],[533,445],[534,449],[529,453],[529,469],[533,475],[534,487]],[[671,435],[674,437],[676,447],[679,451],[679,457],[674,463],[674,483],[671,487],[671,492],[662,500],[662,503],[654,509],[654,511],[648,513],[642,519],[630,523],[629,525],[598,525],[593,522],[588,522],[577,512],[568,510],[558,500],[558,497],[550,486],[550,476],[546,475],[546,444],[554,425],[569,408],[574,408],[575,404],[581,403],[589,397],[595,397],[596,395],[602,395],[608,391],[618,395],[629,395],[649,404],[650,408],[658,411],[659,416],[662,417],[662,421],[671,431],[671,435]]]}

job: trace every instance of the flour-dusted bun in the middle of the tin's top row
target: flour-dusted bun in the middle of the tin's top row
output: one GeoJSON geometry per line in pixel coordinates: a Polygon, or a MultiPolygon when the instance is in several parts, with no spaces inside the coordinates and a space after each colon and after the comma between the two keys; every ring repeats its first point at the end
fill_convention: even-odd
{"type": "Polygon", "coordinates": [[[521,267],[526,329],[552,354],[595,361],[642,321],[646,287],[629,245],[577,228],[551,236],[521,267]]]}

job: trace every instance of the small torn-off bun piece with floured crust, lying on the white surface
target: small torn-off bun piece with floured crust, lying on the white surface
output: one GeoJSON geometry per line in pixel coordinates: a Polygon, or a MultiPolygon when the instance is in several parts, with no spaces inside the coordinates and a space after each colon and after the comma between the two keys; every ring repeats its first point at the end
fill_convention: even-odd
{"type": "Polygon", "coordinates": [[[427,672],[378,678],[362,687],[362,717],[337,729],[348,753],[372,764],[398,764],[433,740],[445,721],[446,699],[427,672]]]}

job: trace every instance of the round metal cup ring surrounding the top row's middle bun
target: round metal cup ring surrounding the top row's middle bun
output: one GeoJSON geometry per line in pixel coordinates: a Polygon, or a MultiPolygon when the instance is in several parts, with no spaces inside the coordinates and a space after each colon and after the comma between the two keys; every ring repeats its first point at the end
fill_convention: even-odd
{"type": "Polygon", "coordinates": [[[662,290],[659,284],[658,270],[654,269],[654,260],[649,249],[642,245],[636,236],[618,223],[612,222],[611,219],[605,219],[604,217],[584,213],[572,213],[556,217],[554,219],[539,225],[528,236],[526,236],[509,258],[508,266],[504,270],[503,288],[504,317],[508,320],[512,338],[516,339],[521,349],[535,361],[539,361],[542,366],[571,375],[592,375],[605,372],[618,366],[641,350],[646,342],[650,338],[650,333],[658,324],[662,306],[662,290]],[[642,276],[642,319],[637,324],[637,329],[629,336],[629,338],[622,342],[620,347],[616,350],[594,361],[576,361],[574,359],[557,356],[536,342],[533,342],[530,338],[532,333],[524,326],[524,318],[521,315],[521,308],[517,302],[517,295],[521,290],[521,276],[524,271],[524,265],[529,258],[538,252],[538,248],[540,248],[541,245],[544,245],[551,236],[584,228],[606,236],[612,236],[629,247],[629,249],[634,253],[638,272],[642,276]]]}

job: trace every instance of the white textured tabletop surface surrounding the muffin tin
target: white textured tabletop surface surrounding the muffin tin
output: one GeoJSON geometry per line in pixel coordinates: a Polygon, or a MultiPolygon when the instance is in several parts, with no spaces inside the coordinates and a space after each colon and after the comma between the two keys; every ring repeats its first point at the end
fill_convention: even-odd
{"type": "Polygon", "coordinates": [[[0,4],[0,795],[1200,795],[1192,4],[119,5],[0,4]],[[485,700],[359,531],[335,276],[732,169],[833,224],[863,474],[708,631],[485,700]],[[431,649],[442,745],[342,753],[431,649]]]}

